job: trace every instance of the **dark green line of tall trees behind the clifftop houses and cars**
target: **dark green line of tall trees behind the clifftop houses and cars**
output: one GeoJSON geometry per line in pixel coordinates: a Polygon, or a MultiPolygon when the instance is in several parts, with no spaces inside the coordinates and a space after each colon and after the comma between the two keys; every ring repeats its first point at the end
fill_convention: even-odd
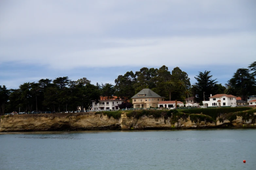
{"type": "MultiPolygon", "coordinates": [[[[256,93],[256,62],[248,68],[239,68],[233,77],[223,86],[212,78],[211,71],[198,72],[196,83],[191,85],[188,74],[179,67],[172,71],[163,65],[158,68],[143,67],[119,75],[115,84],[91,84],[87,78],[72,81],[68,77],[58,77],[54,80],[41,79],[38,82],[26,82],[18,89],[7,89],[0,86],[0,115],[12,111],[76,111],[80,107],[92,108],[92,100],[98,102],[100,96],[112,99],[116,95],[131,102],[131,97],[142,89],[149,88],[165,100],[184,101],[188,96],[195,96],[196,102],[210,97],[210,94],[232,94],[247,100],[248,95],[256,93]]],[[[125,106],[131,106],[124,104],[125,106]]]]}

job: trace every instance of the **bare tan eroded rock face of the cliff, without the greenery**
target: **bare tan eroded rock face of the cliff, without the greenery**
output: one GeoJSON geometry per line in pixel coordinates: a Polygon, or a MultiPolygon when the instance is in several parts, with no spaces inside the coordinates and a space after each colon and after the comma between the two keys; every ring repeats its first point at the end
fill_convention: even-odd
{"type": "Polygon", "coordinates": [[[170,118],[153,118],[143,116],[139,119],[128,118],[125,113],[120,119],[108,118],[107,115],[83,114],[38,114],[38,115],[10,115],[1,118],[0,132],[25,132],[25,131],[62,131],[62,130],[153,130],[153,129],[207,129],[207,128],[256,128],[252,120],[243,120],[237,116],[230,122],[195,123],[188,117],[172,122],[170,118]]]}

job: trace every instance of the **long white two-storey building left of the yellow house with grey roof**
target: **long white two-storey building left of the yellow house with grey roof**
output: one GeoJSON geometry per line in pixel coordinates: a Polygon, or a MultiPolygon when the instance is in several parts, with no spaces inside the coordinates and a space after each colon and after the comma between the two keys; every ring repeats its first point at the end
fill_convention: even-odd
{"type": "Polygon", "coordinates": [[[92,110],[109,110],[109,109],[118,110],[120,109],[118,107],[118,104],[121,104],[124,101],[125,100],[122,100],[122,99],[99,100],[99,103],[96,103],[96,101],[92,101],[92,104],[93,104],[92,110]]]}

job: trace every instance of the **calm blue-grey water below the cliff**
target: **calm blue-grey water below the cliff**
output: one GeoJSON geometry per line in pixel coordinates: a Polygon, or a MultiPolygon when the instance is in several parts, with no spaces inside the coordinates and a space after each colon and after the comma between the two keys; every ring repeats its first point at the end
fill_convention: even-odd
{"type": "Polygon", "coordinates": [[[1,134],[0,169],[256,169],[256,130],[1,134]]]}

